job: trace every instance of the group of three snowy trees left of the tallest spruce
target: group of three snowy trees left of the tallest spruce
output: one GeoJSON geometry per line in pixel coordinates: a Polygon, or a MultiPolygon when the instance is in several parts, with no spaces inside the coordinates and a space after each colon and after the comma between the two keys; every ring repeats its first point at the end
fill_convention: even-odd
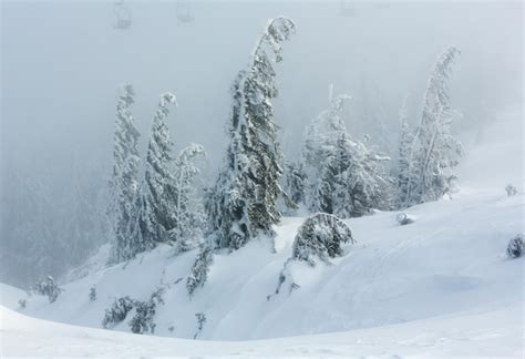
{"type": "Polygon", "coordinates": [[[205,151],[200,145],[191,144],[178,156],[173,155],[166,119],[169,107],[176,105],[176,98],[164,93],[153,119],[144,177],[140,181],[140,133],[131,112],[134,101],[133,88],[123,85],[116,106],[110,182],[113,263],[131,259],[158,243],[174,245],[179,252],[189,250],[203,238],[204,207],[193,183],[199,172],[195,158],[205,151]]]}

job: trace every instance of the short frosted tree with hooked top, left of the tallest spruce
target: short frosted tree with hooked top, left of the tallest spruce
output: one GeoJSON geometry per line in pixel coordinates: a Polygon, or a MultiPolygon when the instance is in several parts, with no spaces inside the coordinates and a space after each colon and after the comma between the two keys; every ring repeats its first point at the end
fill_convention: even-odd
{"type": "Polygon", "coordinates": [[[202,145],[192,143],[181,151],[175,161],[177,201],[174,209],[177,225],[172,229],[171,238],[177,243],[179,252],[196,248],[203,242],[205,213],[195,186],[195,177],[200,173],[195,160],[205,155],[202,145]]]}

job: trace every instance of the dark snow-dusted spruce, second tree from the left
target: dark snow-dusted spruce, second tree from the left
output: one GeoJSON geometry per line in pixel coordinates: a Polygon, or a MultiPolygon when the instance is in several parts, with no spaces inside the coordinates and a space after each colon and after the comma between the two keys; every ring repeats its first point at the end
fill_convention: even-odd
{"type": "Polygon", "coordinates": [[[147,147],[144,182],[136,205],[136,220],[133,228],[132,255],[153,248],[156,243],[169,242],[171,230],[176,228],[177,191],[173,173],[172,146],[166,117],[169,105],[176,105],[175,95],[161,95],[153,119],[147,147]]]}

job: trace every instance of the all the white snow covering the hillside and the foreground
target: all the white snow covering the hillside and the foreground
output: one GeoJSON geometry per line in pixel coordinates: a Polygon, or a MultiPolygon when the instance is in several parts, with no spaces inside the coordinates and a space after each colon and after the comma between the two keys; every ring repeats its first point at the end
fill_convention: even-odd
{"type": "MultiPolygon", "coordinates": [[[[497,137],[505,121],[521,121],[502,119],[491,135],[497,137]]],[[[261,239],[216,255],[192,300],[185,277],[196,253],[173,256],[169,246],[87,274],[103,263],[99,254],[101,263],[92,260],[53,304],[2,286],[1,353],[521,358],[525,258],[508,259],[505,249],[524,232],[523,139],[505,139],[471,148],[460,172],[462,191],[452,201],[409,208],[415,223],[399,226],[397,212],[346,220],[358,240],[348,255],[329,267],[299,266],[300,288],[289,295],[284,287],[269,301],[303,218],[284,218],[276,228],[277,253],[261,239]],[[519,195],[506,197],[507,182],[519,195]],[[89,300],[92,286],[96,301],[89,300]],[[172,338],[119,332],[130,331],[133,311],[115,331],[93,329],[115,298],[146,300],[159,286],[166,293],[155,335],[172,338]],[[20,298],[27,308],[13,311],[20,298]],[[197,312],[207,318],[198,339],[207,340],[179,339],[194,337],[197,312]]]]}

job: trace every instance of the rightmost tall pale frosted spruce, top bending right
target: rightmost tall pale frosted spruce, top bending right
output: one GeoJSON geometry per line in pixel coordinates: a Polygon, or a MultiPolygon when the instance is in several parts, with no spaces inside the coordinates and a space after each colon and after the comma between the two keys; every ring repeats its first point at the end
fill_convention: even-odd
{"type": "Polygon", "coordinates": [[[453,112],[447,80],[459,54],[454,47],[446,49],[430,76],[421,123],[412,144],[404,206],[441,198],[450,193],[456,178],[453,168],[463,151],[461,143],[451,134],[453,112]]]}

